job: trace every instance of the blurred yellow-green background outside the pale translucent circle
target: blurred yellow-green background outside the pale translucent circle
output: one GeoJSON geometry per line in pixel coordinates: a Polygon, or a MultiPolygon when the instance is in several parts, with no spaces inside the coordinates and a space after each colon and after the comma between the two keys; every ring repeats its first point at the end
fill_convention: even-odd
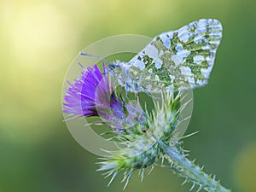
{"type": "MultiPolygon", "coordinates": [[[[209,84],[194,91],[184,141],[190,158],[233,191],[256,191],[256,2],[246,0],[0,2],[0,192],[122,191],[107,188],[96,155],[62,122],[61,85],[79,50],[109,36],[154,37],[190,21],[224,26],[209,84]]],[[[156,168],[125,191],[185,192],[183,179],[156,168]]]]}

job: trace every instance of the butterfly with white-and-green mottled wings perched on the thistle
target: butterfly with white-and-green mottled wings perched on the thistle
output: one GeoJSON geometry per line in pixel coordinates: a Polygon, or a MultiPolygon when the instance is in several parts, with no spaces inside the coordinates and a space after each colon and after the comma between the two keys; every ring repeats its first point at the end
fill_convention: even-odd
{"type": "Polygon", "coordinates": [[[218,20],[196,20],[154,37],[129,62],[110,62],[108,73],[126,91],[135,93],[201,87],[212,72],[221,38],[218,20]]]}

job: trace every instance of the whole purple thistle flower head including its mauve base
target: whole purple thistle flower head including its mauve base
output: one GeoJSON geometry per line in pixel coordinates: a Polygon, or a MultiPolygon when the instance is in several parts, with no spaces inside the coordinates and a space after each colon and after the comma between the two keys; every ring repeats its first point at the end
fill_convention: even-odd
{"type": "MultiPolygon", "coordinates": [[[[84,67],[83,67],[84,68],[84,67]]],[[[102,63],[103,74],[99,68],[84,68],[79,79],[69,84],[64,96],[63,113],[69,113],[70,119],[100,116],[114,131],[124,126],[133,127],[143,116],[143,109],[136,103],[125,104],[117,97],[108,81],[107,69],[102,63]]]]}

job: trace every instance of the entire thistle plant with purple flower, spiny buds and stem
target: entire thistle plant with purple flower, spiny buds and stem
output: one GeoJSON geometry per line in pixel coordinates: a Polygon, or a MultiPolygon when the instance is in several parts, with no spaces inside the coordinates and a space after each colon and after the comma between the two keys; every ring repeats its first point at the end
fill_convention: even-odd
{"type": "Polygon", "coordinates": [[[102,67],[102,72],[96,65],[84,68],[79,79],[69,83],[63,113],[69,113],[70,119],[99,116],[102,124],[113,130],[112,139],[122,147],[106,151],[98,162],[98,171],[111,177],[108,185],[122,173],[126,187],[135,171],[140,172],[143,180],[145,172],[162,165],[183,177],[184,183],[192,183],[191,190],[197,187],[197,191],[230,191],[189,160],[188,152],[182,148],[183,137],[176,130],[184,120],[180,114],[188,102],[182,102],[181,92],[162,91],[161,101],[154,102],[154,109],[149,112],[143,110],[138,100],[129,102],[129,98],[115,92],[104,63],[102,67]]]}

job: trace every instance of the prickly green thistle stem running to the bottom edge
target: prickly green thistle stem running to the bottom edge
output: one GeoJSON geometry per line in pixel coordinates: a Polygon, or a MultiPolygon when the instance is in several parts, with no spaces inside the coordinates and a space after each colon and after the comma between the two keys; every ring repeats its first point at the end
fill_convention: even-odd
{"type": "Polygon", "coordinates": [[[187,159],[183,151],[176,146],[172,148],[170,145],[161,141],[159,145],[165,154],[171,158],[173,163],[172,170],[178,175],[185,177],[186,181],[191,181],[194,185],[198,185],[199,190],[205,189],[211,192],[230,192],[229,189],[225,189],[218,181],[203,172],[201,167],[196,166],[194,162],[187,159]]]}

